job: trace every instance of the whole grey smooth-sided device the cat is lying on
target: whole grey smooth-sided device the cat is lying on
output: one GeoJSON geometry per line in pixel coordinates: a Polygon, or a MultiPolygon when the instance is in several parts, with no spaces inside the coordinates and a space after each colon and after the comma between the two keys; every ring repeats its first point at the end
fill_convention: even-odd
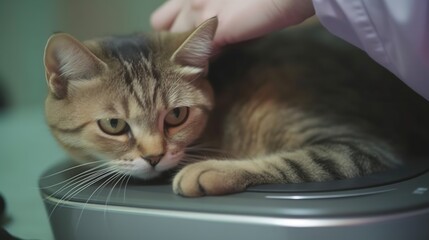
{"type": "MultiPolygon", "coordinates": [[[[65,163],[46,174],[67,167],[65,163]]],[[[130,183],[126,192],[125,188],[115,189],[112,185],[99,188],[98,183],[68,199],[64,198],[67,190],[58,191],[61,185],[54,183],[69,177],[52,175],[40,182],[42,187],[51,186],[43,188],[42,194],[54,232],[60,239],[429,237],[427,171],[400,182],[362,189],[320,192],[301,189],[287,193],[259,190],[204,198],[176,196],[169,185],[162,183],[130,183]]]]}

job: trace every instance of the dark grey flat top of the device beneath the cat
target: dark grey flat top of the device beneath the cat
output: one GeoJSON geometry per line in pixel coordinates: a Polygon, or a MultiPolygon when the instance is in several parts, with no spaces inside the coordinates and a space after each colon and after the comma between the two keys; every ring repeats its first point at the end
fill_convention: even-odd
{"type": "MultiPolygon", "coordinates": [[[[271,191],[271,186],[259,186],[245,193],[233,194],[224,197],[183,198],[173,194],[171,185],[163,182],[128,182],[124,184],[112,183],[104,185],[109,177],[97,183],[79,188],[74,176],[86,171],[82,168],[73,168],[70,162],[53,166],[40,179],[40,187],[44,195],[51,199],[80,202],[85,204],[99,204],[102,206],[126,206],[147,209],[162,209],[174,211],[215,212],[225,214],[248,214],[252,216],[275,217],[324,217],[357,216],[362,214],[383,214],[386,212],[402,211],[409,206],[428,205],[429,190],[423,195],[413,194],[418,188],[429,188],[429,166],[425,166],[423,173],[401,182],[383,185],[379,182],[376,187],[357,188],[350,190],[325,190],[320,188],[314,191],[313,184],[285,184],[282,192],[271,191]],[[64,172],[64,169],[72,169],[64,172]],[[57,174],[59,173],[59,174],[57,174]],[[73,180],[73,178],[75,180],[73,180]],[[70,179],[72,181],[70,181],[70,179]],[[293,187],[295,191],[287,191],[293,187]],[[79,190],[80,189],[80,190],[79,190]],[[299,189],[299,190],[297,190],[299,189]],[[265,191],[264,191],[265,190],[265,191]],[[74,193],[72,196],[70,193],[74,193]],[[71,196],[71,197],[70,197],[71,196]],[[267,199],[269,197],[270,199],[267,199]],[[302,200],[303,198],[310,198],[302,200]],[[279,199],[285,200],[279,200],[279,199]],[[286,199],[288,198],[288,199],[286,199]],[[400,201],[383,201],[379,199],[397,199],[400,201]],[[292,200],[289,200],[292,199],[292,200]],[[294,200],[296,199],[296,200],[294,200]],[[348,207],[353,206],[353,207],[348,207]]],[[[391,172],[393,175],[396,172],[391,172]]],[[[414,173],[413,173],[414,174],[414,173]]],[[[387,173],[387,176],[389,174],[387,173]]],[[[381,174],[386,176],[386,174],[381,174]]],[[[371,178],[368,177],[368,178],[371,178]]],[[[365,182],[366,177],[360,179],[365,182]]],[[[385,178],[391,182],[392,178],[385,178]]],[[[393,178],[395,179],[395,178],[393,178]]],[[[347,180],[345,180],[347,182],[347,180]]],[[[357,179],[359,181],[359,179],[357,179]]],[[[316,184],[316,183],[314,183],[316,184]]],[[[324,185],[325,183],[320,183],[324,185]]],[[[317,185],[317,184],[316,184],[317,185]]],[[[344,181],[330,183],[344,187],[344,181]]]]}

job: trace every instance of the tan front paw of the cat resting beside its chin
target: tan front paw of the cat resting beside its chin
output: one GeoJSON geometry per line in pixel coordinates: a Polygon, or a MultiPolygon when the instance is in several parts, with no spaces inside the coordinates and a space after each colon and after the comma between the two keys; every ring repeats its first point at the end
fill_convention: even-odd
{"type": "Polygon", "coordinates": [[[236,162],[207,160],[180,170],[173,191],[185,197],[242,192],[249,185],[248,175],[236,162]]]}

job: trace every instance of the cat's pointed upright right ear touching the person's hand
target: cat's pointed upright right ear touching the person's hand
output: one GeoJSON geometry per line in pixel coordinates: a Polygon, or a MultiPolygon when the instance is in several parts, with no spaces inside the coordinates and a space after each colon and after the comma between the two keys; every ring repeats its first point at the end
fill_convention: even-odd
{"type": "Polygon", "coordinates": [[[180,72],[198,74],[207,69],[217,25],[217,17],[206,20],[173,53],[171,61],[181,66],[180,72]]]}

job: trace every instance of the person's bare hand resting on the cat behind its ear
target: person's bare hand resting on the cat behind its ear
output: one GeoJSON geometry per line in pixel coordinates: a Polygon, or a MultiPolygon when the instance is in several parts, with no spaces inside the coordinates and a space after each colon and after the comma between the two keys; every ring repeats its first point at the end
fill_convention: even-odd
{"type": "Polygon", "coordinates": [[[151,17],[155,30],[182,32],[217,16],[220,48],[298,24],[314,15],[311,0],[169,0],[151,17]]]}

